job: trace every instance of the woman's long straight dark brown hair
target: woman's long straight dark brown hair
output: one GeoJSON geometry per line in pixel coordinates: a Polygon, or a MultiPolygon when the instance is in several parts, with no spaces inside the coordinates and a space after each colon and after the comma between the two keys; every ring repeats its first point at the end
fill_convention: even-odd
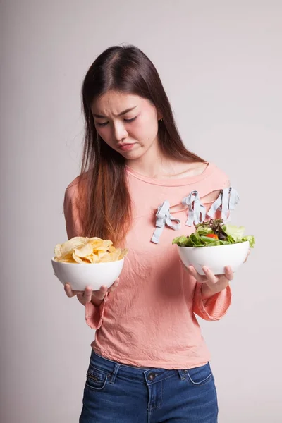
{"type": "Polygon", "coordinates": [[[125,158],[98,135],[91,109],[93,102],[109,90],[135,94],[154,104],[162,116],[158,140],[166,157],[204,160],[185,148],[157,69],[140,49],[109,47],[97,57],[82,84],[85,143],[79,190],[81,221],[85,235],[122,244],[132,219],[125,158]]]}

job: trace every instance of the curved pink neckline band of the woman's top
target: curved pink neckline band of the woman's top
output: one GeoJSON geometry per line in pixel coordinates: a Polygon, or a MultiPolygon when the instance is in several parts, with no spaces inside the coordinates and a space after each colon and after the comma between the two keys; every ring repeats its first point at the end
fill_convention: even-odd
{"type": "Polygon", "coordinates": [[[151,185],[161,185],[164,187],[179,187],[182,185],[190,185],[192,183],[197,183],[200,180],[203,180],[207,178],[213,171],[214,171],[214,164],[208,163],[207,167],[204,169],[202,173],[195,176],[185,176],[185,178],[167,178],[167,179],[156,179],[156,178],[150,178],[149,176],[142,175],[142,173],[139,173],[130,166],[125,166],[127,173],[130,176],[133,176],[136,179],[142,180],[145,183],[150,183],[151,185]]]}

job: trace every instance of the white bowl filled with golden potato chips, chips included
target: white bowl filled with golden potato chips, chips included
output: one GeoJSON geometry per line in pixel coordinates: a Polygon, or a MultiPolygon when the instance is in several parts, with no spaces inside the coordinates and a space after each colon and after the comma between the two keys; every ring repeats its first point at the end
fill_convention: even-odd
{"type": "Polygon", "coordinates": [[[128,250],[114,247],[111,240],[93,237],[74,237],[57,244],[51,259],[55,276],[70,283],[73,290],[91,286],[99,290],[110,287],[120,276],[128,250]]]}

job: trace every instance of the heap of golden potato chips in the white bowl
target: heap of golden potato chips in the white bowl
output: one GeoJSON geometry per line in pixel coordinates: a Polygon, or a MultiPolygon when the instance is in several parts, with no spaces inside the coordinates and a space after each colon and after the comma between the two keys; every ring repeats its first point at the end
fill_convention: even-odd
{"type": "Polygon", "coordinates": [[[98,237],[73,237],[54,248],[54,260],[63,263],[95,264],[116,262],[128,254],[128,249],[114,247],[111,240],[98,237]]]}

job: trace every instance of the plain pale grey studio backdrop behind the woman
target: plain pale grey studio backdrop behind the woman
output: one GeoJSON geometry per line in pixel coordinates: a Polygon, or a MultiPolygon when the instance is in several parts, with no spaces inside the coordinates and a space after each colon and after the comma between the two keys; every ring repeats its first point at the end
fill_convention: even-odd
{"type": "Polygon", "coordinates": [[[185,144],[240,194],[256,236],[222,321],[202,322],[220,423],[278,423],[281,1],[1,1],[1,423],[77,423],[94,332],[51,269],[78,175],[80,86],[106,47],[157,66],[185,144]]]}

